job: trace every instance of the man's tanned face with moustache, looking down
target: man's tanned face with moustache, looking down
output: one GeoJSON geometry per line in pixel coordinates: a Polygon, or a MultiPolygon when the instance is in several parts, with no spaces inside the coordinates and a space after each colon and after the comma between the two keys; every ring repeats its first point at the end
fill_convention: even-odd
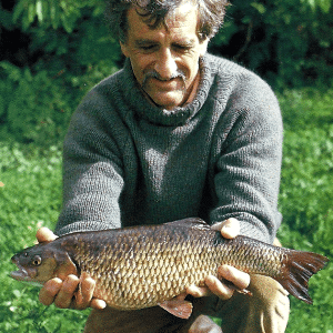
{"type": "Polygon", "coordinates": [[[199,58],[208,41],[196,36],[198,11],[189,1],[151,29],[134,8],[128,12],[128,36],[121,43],[148,99],[168,110],[191,101],[199,81],[199,58]]]}

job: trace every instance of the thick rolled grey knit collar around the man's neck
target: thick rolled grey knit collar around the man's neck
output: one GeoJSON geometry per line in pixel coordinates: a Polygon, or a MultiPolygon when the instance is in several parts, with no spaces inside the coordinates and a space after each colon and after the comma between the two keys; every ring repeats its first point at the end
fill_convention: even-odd
{"type": "Polygon", "coordinates": [[[119,85],[123,91],[127,102],[139,117],[159,125],[183,125],[200,111],[212,85],[213,75],[209,58],[210,56],[208,54],[200,59],[199,68],[201,77],[198,92],[193,101],[182,108],[170,111],[151,104],[138,87],[129,59],[127,59],[123,67],[119,85]]]}

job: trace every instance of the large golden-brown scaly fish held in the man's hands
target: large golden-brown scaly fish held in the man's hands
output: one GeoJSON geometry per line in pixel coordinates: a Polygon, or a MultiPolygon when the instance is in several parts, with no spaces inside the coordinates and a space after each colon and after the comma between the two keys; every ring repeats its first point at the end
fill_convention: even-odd
{"type": "Polygon", "coordinates": [[[309,279],[329,259],[313,252],[279,248],[239,235],[224,239],[203,220],[191,218],[159,225],[74,232],[13,255],[11,278],[43,284],[52,278],[88,274],[93,296],[118,310],[161,306],[188,319],[192,304],[179,300],[192,284],[218,276],[232,265],[249,274],[275,279],[290,294],[312,304],[309,279]]]}

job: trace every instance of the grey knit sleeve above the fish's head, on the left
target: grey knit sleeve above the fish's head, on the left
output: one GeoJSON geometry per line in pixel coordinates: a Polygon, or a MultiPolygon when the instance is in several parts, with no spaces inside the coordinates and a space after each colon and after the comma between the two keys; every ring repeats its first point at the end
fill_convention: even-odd
{"type": "MultiPolygon", "coordinates": [[[[63,206],[56,233],[120,228],[123,171],[110,101],[92,91],[73,114],[63,148],[63,206]],[[113,131],[113,132],[112,132],[113,131]]],[[[123,135],[119,134],[120,141],[123,135]]]]}

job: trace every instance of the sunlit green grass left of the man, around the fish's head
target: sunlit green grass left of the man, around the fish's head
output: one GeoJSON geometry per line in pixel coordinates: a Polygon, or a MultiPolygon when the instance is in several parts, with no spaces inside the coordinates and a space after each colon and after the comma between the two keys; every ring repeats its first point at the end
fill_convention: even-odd
{"type": "Polygon", "coordinates": [[[38,287],[9,278],[10,258],[31,245],[40,226],[54,228],[61,204],[61,153],[57,147],[0,143],[0,332],[81,332],[87,312],[46,307],[38,287]]]}

